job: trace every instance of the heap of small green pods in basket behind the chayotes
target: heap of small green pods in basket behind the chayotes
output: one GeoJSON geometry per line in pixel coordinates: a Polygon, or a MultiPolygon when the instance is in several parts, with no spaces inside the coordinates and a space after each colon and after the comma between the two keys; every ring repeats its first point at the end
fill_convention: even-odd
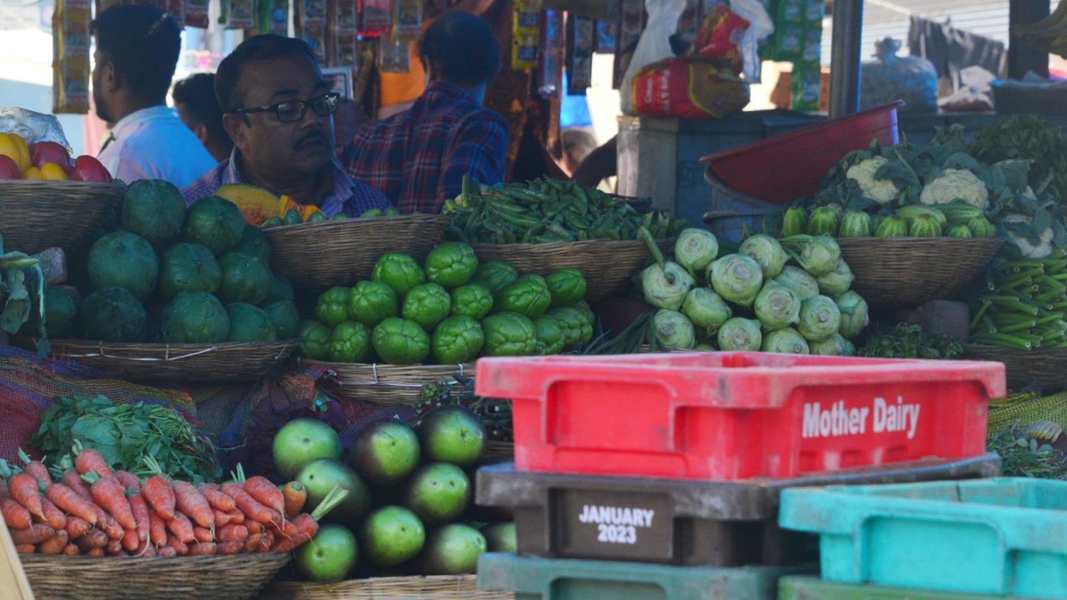
{"type": "Polygon", "coordinates": [[[452,217],[445,238],[467,243],[637,239],[642,225],[665,238],[685,226],[684,219],[641,215],[600,190],[550,178],[489,187],[464,176],[462,193],[445,203],[444,214],[452,217]]]}

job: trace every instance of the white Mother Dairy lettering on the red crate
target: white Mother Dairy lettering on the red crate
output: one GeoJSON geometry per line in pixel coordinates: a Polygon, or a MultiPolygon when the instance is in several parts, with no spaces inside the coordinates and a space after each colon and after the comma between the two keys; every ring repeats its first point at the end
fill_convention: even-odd
{"type": "Polygon", "coordinates": [[[904,404],[902,396],[896,402],[876,397],[873,407],[845,408],[844,400],[838,400],[827,408],[821,402],[803,405],[803,438],[835,438],[857,436],[867,431],[867,417],[873,416],[870,430],[875,433],[907,431],[908,439],[914,439],[919,426],[918,404],[904,404]]]}

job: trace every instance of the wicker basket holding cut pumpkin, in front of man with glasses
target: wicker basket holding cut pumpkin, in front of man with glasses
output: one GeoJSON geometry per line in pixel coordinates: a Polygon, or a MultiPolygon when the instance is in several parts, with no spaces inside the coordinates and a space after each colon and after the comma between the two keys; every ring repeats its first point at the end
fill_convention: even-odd
{"type": "Polygon", "coordinates": [[[437,215],[318,221],[264,230],[273,268],[293,286],[313,291],[370,279],[386,252],[426,258],[451,222],[437,215]]]}

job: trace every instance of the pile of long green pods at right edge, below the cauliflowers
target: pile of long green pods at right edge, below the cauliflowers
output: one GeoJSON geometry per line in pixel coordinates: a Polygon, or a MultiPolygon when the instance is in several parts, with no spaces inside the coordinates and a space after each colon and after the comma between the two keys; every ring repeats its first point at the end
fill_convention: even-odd
{"type": "Polygon", "coordinates": [[[971,343],[1067,349],[1067,252],[1003,265],[988,287],[972,307],[971,343]]]}

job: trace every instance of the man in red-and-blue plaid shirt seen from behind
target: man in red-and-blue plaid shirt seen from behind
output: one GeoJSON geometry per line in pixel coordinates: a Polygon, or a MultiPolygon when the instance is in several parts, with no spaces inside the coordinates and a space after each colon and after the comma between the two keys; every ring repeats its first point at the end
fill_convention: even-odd
{"type": "Polygon", "coordinates": [[[500,69],[499,48],[481,18],[453,12],[427,28],[419,59],[426,92],[409,110],[365,127],[341,156],[349,175],[401,212],[439,212],[464,175],[504,178],[507,123],[481,106],[500,69]]]}

